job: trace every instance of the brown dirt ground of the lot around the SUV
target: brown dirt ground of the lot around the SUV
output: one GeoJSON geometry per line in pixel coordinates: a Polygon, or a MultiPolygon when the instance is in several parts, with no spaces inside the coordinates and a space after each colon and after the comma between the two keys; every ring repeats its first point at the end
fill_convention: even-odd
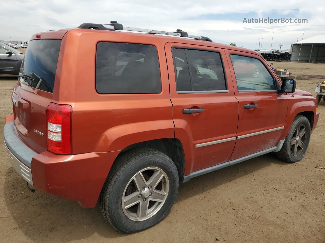
{"type": "MultiPolygon", "coordinates": [[[[314,96],[325,78],[325,64],[273,63],[314,96]]],[[[16,82],[0,75],[0,141],[16,82]]],[[[166,219],[129,235],[112,229],[98,207],[31,193],[0,145],[0,242],[325,242],[325,170],[315,168],[325,166],[325,102],[318,110],[302,161],[284,163],[271,153],[191,179],[180,185],[166,219]]]]}

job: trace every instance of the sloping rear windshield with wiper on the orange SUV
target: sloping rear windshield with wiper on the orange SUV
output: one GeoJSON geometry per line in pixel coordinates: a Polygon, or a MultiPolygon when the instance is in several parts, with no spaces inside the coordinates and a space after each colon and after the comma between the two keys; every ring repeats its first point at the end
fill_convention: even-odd
{"type": "Polygon", "coordinates": [[[29,86],[53,92],[61,40],[30,41],[20,68],[19,80],[29,86]]]}

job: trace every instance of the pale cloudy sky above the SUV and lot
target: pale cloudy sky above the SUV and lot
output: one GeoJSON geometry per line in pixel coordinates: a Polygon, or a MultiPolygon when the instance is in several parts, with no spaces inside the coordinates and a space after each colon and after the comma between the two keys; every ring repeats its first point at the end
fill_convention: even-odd
{"type": "Polygon", "coordinates": [[[325,35],[325,1],[217,0],[2,0],[0,40],[28,41],[32,34],[82,23],[176,31],[236,43],[248,49],[290,49],[290,44],[325,35]],[[307,19],[308,23],[243,23],[251,18],[307,19]],[[272,41],[272,35],[273,41],[272,41]],[[263,40],[262,40],[263,38],[263,40]]]}

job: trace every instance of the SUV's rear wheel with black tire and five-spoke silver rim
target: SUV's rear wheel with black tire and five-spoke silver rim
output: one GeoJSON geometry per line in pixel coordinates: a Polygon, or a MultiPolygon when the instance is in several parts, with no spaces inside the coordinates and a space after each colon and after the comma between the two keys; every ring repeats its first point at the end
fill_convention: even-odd
{"type": "MultiPolygon", "coordinates": [[[[133,233],[149,228],[160,222],[170,213],[177,195],[178,184],[177,168],[167,155],[153,148],[141,148],[127,151],[119,156],[114,162],[103,186],[99,199],[101,212],[110,225],[117,231],[133,233]],[[152,171],[150,169],[142,171],[147,168],[152,169],[152,171]],[[161,174],[158,174],[157,171],[160,171],[159,173],[161,174]],[[143,176],[140,176],[139,172],[143,176]],[[152,175],[150,175],[151,172],[153,172],[152,175]],[[158,184],[153,182],[156,186],[147,185],[155,173],[159,175],[156,176],[156,178],[159,177],[162,179],[158,184]],[[143,191],[144,187],[140,187],[143,180],[140,181],[141,179],[135,179],[134,177],[136,175],[139,176],[136,178],[141,179],[147,177],[145,179],[146,182],[144,182],[145,191],[143,191]],[[139,182],[135,183],[136,180],[139,182]],[[160,188],[157,189],[158,187],[160,188]],[[149,191],[149,189],[151,191],[149,191]],[[160,194],[157,194],[157,190],[160,190],[158,192],[166,192],[165,196],[163,196],[165,198],[164,202],[162,203],[153,201],[155,200],[153,199],[154,196],[160,194]],[[129,202],[126,200],[128,195],[136,195],[130,197],[132,200],[139,200],[139,202],[134,204],[135,202],[132,203],[130,201],[130,205],[133,206],[123,209],[123,206],[129,202]],[[124,202],[123,206],[122,200],[124,202]],[[145,202],[148,204],[145,204],[145,202]],[[140,214],[139,211],[142,212],[139,210],[140,205],[141,207],[142,205],[148,205],[151,212],[148,210],[148,212],[145,212],[146,214],[140,214]]],[[[162,195],[160,194],[160,196],[162,195]]]]}

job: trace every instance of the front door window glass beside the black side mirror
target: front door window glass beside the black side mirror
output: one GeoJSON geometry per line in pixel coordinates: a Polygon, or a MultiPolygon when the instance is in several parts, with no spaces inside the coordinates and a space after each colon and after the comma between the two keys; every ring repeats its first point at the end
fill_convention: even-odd
{"type": "Polygon", "coordinates": [[[247,56],[230,55],[238,90],[275,90],[272,75],[263,63],[247,56]]]}

